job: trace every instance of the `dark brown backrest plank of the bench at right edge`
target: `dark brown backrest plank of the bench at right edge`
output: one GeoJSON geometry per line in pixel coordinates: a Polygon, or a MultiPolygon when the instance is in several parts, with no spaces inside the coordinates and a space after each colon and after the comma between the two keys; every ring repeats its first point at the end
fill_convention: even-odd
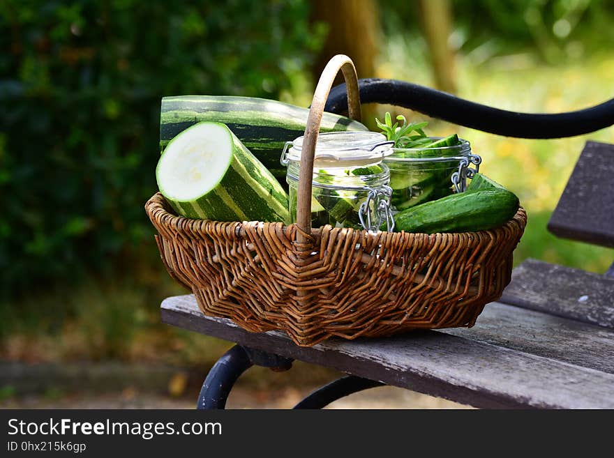
{"type": "Polygon", "coordinates": [[[553,212],[553,234],[614,247],[614,145],[586,142],[553,212]]]}

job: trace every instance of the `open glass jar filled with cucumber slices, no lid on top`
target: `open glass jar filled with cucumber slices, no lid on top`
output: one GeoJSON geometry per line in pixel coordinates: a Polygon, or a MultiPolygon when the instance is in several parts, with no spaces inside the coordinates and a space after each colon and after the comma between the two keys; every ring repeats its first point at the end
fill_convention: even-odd
{"type": "MultiPolygon", "coordinates": [[[[441,137],[430,137],[433,141],[441,137]]],[[[384,159],[390,169],[392,211],[465,190],[467,178],[479,170],[481,158],[471,153],[467,140],[439,148],[394,148],[384,159]],[[475,165],[471,169],[470,165],[475,165]]]]}

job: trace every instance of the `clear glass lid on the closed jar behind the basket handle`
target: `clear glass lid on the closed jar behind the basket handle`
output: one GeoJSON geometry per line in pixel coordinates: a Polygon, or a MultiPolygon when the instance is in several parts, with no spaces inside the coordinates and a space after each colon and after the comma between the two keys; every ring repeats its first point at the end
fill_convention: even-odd
{"type": "MultiPolygon", "coordinates": [[[[285,144],[282,163],[301,160],[304,136],[285,144]]],[[[378,132],[324,132],[315,144],[314,167],[352,167],[380,162],[394,142],[378,132]]]]}

